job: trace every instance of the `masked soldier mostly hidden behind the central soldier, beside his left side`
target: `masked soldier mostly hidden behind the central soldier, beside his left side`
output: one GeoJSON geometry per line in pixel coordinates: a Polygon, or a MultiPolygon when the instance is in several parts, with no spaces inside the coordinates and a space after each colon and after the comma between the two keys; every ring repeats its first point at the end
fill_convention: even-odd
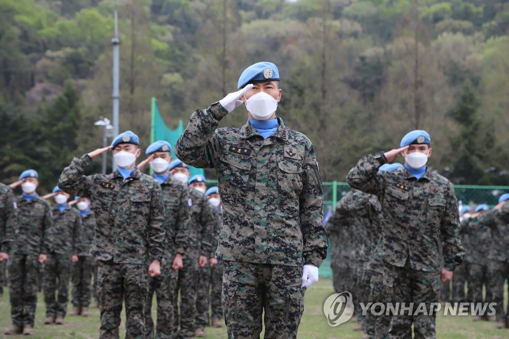
{"type": "MultiPolygon", "coordinates": [[[[212,241],[212,251],[215,252],[217,244],[219,242],[219,232],[221,231],[221,218],[222,218],[222,206],[221,197],[217,186],[210,187],[205,195],[209,199],[209,203],[212,206],[212,210],[217,216],[218,222],[216,223],[216,229],[214,230],[214,238],[212,241]]],[[[221,286],[222,286],[222,271],[223,262],[221,259],[211,258],[210,264],[210,310],[212,318],[212,326],[219,328],[222,327],[221,319],[223,319],[223,311],[221,306],[221,286]],[[216,265],[212,265],[213,259],[217,260],[216,265]]],[[[208,308],[207,308],[208,309],[208,308]]]]}

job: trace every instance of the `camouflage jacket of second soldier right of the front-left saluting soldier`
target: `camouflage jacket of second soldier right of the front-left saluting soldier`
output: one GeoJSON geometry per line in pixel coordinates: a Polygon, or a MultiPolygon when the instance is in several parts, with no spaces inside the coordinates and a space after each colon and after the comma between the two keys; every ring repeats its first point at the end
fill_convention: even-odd
{"type": "Polygon", "coordinates": [[[214,225],[217,219],[212,214],[210,203],[205,194],[189,187],[189,256],[205,256],[209,258],[212,251],[214,225]]]}

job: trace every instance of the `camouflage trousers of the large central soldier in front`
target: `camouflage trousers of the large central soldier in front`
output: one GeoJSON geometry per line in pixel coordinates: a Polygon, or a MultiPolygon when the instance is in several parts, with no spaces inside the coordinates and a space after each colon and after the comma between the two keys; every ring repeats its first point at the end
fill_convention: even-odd
{"type": "Polygon", "coordinates": [[[224,261],[222,304],[230,339],[296,338],[304,291],[302,266],[224,261]]]}

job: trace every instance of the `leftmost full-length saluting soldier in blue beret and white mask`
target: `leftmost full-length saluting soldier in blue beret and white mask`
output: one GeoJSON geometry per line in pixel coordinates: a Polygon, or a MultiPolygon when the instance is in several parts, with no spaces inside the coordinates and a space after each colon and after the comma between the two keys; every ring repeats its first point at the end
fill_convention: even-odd
{"type": "Polygon", "coordinates": [[[26,170],[11,184],[11,188],[21,185],[23,194],[16,198],[17,222],[8,264],[12,318],[8,335],[34,334],[39,264],[51,249],[51,207],[37,195],[38,177],[35,170],[26,170]]]}

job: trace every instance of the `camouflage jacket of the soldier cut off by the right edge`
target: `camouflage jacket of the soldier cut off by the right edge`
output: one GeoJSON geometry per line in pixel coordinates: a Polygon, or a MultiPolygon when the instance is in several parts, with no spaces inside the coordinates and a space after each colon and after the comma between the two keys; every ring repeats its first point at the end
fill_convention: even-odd
{"type": "Polygon", "coordinates": [[[489,210],[479,217],[479,223],[491,229],[492,246],[490,260],[509,262],[509,203],[499,210],[489,210]]]}

